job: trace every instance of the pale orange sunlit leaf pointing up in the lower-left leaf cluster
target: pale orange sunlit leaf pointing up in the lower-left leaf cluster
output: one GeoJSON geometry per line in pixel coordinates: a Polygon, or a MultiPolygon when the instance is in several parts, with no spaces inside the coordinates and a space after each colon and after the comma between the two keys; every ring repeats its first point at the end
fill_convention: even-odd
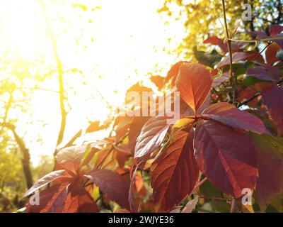
{"type": "Polygon", "coordinates": [[[58,164],[66,170],[71,172],[76,172],[79,170],[79,165],[86,151],[86,147],[68,147],[59,150],[56,155],[56,160],[58,164]]]}

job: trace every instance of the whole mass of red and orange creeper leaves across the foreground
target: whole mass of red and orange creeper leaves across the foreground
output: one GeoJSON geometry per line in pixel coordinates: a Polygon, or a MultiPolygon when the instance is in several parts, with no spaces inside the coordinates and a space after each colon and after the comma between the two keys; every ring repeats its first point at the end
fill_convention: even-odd
{"type": "MultiPolygon", "coordinates": [[[[270,35],[279,36],[282,30],[271,27],[270,35]]],[[[236,91],[238,102],[258,94],[256,103],[245,103],[253,107],[255,114],[250,114],[249,108],[242,111],[223,101],[220,92],[211,100],[212,87],[226,84],[229,57],[223,40],[212,37],[204,43],[219,45],[223,52],[223,60],[212,72],[199,63],[178,62],[166,78],[151,77],[160,91],[180,92],[178,121],[169,124],[167,116],[118,113],[102,126],[91,123],[86,133],[112,126],[110,136],[81,145],[73,145],[72,138],[57,154],[57,170],[25,193],[30,196],[45,187],[40,192],[40,205],[27,203],[26,212],[98,212],[113,210],[113,201],[120,207],[115,211],[175,211],[175,206],[198,187],[200,175],[236,199],[249,188],[262,206],[279,194],[283,189],[282,60],[275,59],[278,51],[273,48],[278,45],[281,50],[282,45],[279,41],[269,44],[265,58],[259,52],[243,50],[243,45],[233,45],[234,64],[253,63],[246,76],[238,79],[236,91]],[[245,84],[250,78],[253,83],[245,84]],[[267,130],[257,116],[275,126],[267,130]],[[150,185],[144,177],[149,177],[150,185]],[[98,193],[94,193],[96,189],[98,193]]],[[[130,91],[152,89],[135,84],[130,91]]],[[[175,101],[172,99],[172,105],[175,101]]],[[[143,108],[153,111],[150,106],[140,106],[143,108]]],[[[191,211],[196,203],[190,201],[183,211],[191,211]]]]}

